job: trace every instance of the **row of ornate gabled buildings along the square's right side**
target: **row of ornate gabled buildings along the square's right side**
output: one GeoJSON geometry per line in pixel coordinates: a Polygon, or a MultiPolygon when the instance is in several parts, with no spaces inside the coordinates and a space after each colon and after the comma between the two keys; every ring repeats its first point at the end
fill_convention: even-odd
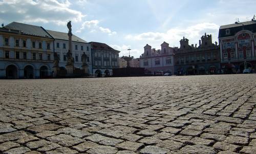
{"type": "Polygon", "coordinates": [[[180,40],[180,47],[169,47],[163,42],[161,49],[144,47],[140,67],[147,73],[168,72],[176,75],[242,73],[244,69],[256,71],[256,20],[221,26],[219,45],[212,43],[206,33],[199,46],[180,40]]]}

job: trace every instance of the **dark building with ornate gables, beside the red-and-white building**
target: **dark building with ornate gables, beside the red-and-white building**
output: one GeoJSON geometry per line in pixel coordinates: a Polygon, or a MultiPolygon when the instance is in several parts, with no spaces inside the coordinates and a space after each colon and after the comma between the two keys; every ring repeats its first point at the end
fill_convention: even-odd
{"type": "Polygon", "coordinates": [[[175,74],[199,75],[220,73],[219,46],[212,43],[206,33],[197,44],[189,45],[188,39],[180,40],[180,48],[175,50],[175,74]]]}

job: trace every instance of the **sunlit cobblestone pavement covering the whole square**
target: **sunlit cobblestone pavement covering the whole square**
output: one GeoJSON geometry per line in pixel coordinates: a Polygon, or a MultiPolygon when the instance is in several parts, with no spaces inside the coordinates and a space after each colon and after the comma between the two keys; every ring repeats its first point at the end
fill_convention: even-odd
{"type": "Polygon", "coordinates": [[[0,87],[0,153],[256,153],[256,74],[0,87]]]}

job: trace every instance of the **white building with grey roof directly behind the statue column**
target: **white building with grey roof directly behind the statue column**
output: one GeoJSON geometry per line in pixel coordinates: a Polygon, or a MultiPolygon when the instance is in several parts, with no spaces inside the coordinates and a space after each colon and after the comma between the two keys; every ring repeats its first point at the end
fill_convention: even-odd
{"type": "MultiPolygon", "coordinates": [[[[67,64],[67,53],[69,50],[68,33],[56,32],[47,30],[47,32],[54,38],[54,51],[59,57],[59,67],[65,68],[67,64]]],[[[89,65],[90,74],[92,74],[92,54],[91,44],[87,41],[73,35],[72,36],[72,56],[74,57],[74,67],[81,69],[82,54],[87,55],[87,64],[89,65]]]]}

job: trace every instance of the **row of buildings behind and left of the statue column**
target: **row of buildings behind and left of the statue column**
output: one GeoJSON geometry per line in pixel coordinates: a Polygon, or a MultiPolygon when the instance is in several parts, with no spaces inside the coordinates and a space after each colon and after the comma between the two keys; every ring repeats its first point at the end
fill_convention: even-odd
{"type": "MultiPolygon", "coordinates": [[[[65,69],[68,49],[67,33],[12,22],[0,28],[0,78],[52,77],[54,53],[60,69],[65,69]]],[[[87,54],[90,74],[111,75],[113,68],[119,68],[119,51],[105,43],[87,42],[73,35],[75,68],[81,68],[83,53],[87,54]]]]}

